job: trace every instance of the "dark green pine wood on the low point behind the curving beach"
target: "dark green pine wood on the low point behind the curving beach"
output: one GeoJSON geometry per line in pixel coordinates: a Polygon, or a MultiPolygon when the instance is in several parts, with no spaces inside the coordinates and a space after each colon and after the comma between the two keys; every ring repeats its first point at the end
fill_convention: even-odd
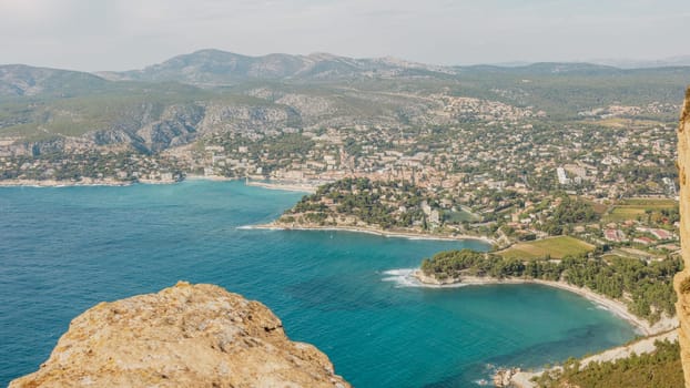
{"type": "Polygon", "coordinates": [[[561,280],[627,303],[637,316],[655,323],[662,313],[674,315],[673,275],[680,259],[646,263],[621,258],[566,256],[560,261],[501,257],[470,249],[448,251],[425,258],[422,270],[438,279],[463,275],[496,278],[561,280]]]}

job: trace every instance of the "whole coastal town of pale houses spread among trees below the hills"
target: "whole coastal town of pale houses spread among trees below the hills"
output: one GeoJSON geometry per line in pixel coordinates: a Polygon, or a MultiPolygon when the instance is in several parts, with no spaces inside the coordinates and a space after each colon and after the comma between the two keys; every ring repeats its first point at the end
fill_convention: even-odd
{"type": "Polygon", "coordinates": [[[174,183],[186,176],[311,192],[335,184],[337,193],[326,188],[327,197],[311,201],[331,213],[341,207],[341,217],[316,211],[308,219],[293,214],[282,221],[481,236],[497,247],[567,234],[643,259],[679,249],[673,124],[643,119],[678,106],[610,105],[558,121],[529,106],[429,98],[442,103],[435,116],[445,123],[225,131],[154,154],[79,144],[69,153],[19,149],[0,155],[0,184],[174,183]],[[343,211],[338,196],[348,195],[368,197],[388,218],[343,211]],[[570,197],[586,215],[558,216],[570,197]]]}

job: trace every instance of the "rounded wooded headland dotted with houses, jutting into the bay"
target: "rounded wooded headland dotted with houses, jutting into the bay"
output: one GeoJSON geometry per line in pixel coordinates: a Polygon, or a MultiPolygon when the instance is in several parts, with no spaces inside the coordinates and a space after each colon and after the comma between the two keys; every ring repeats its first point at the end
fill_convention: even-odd
{"type": "Polygon", "coordinates": [[[407,181],[348,177],[319,186],[260,228],[328,229],[394,237],[496,241],[464,227],[476,215],[407,181]]]}

